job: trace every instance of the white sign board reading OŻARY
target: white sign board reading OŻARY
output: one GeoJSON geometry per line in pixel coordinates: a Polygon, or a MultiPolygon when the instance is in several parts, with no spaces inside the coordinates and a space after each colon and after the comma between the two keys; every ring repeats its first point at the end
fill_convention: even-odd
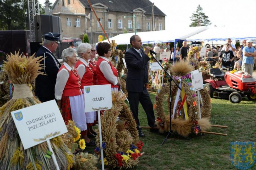
{"type": "Polygon", "coordinates": [[[85,112],[112,108],[111,85],[84,86],[85,112]]]}

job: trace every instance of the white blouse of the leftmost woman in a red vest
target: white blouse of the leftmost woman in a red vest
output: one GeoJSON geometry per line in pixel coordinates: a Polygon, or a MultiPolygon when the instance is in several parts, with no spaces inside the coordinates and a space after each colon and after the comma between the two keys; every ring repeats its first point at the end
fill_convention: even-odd
{"type": "MultiPolygon", "coordinates": [[[[69,70],[74,70],[74,67],[70,67],[66,62],[63,63],[64,66],[69,70]]],[[[55,99],[61,100],[63,90],[69,79],[69,71],[67,69],[61,69],[57,74],[56,84],[55,84],[55,99]]]]}

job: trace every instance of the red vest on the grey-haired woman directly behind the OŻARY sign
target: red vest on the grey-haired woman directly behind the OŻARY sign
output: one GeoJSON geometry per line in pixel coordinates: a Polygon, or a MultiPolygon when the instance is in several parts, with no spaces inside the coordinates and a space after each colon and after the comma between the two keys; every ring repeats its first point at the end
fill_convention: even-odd
{"type": "Polygon", "coordinates": [[[77,68],[80,64],[83,64],[86,68],[86,72],[82,77],[81,80],[81,85],[82,85],[82,89],[84,88],[84,86],[92,86],[93,85],[93,70],[92,68],[88,65],[88,67],[80,60],[78,60],[75,64],[75,68],[77,68]]]}

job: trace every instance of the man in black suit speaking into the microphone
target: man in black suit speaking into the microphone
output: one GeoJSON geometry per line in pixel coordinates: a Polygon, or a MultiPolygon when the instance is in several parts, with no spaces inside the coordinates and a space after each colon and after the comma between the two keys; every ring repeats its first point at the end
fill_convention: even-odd
{"type": "Polygon", "coordinates": [[[139,102],[146,112],[148,125],[156,127],[155,115],[153,104],[147,91],[148,85],[148,61],[150,58],[147,56],[151,48],[146,46],[145,52],[141,48],[142,42],[138,35],[133,35],[130,38],[132,47],[125,53],[124,59],[127,66],[126,89],[128,92],[128,99],[130,109],[133,117],[137,123],[139,136],[145,136],[139,128],[138,107],[139,102]]]}

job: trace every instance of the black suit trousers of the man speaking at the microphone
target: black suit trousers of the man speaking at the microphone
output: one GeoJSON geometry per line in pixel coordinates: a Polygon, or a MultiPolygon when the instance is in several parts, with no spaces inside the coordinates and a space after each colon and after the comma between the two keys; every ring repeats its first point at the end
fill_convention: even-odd
{"type": "Polygon", "coordinates": [[[132,111],[133,117],[137,124],[137,129],[139,129],[139,117],[138,117],[138,107],[139,102],[142,105],[148,120],[148,125],[153,127],[155,124],[155,115],[153,110],[153,104],[149,97],[147,88],[144,87],[142,92],[129,92],[128,91],[128,100],[130,104],[130,109],[132,111]]]}

